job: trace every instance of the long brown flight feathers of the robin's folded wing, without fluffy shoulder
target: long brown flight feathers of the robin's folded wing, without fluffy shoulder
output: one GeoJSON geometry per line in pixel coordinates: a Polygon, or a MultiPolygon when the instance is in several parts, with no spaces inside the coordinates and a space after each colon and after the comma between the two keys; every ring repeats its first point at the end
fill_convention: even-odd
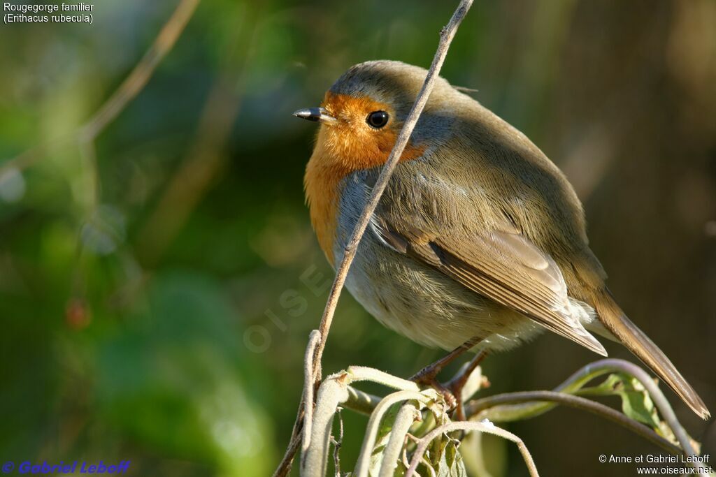
{"type": "Polygon", "coordinates": [[[470,290],[606,355],[601,343],[571,315],[566,283],[554,260],[518,232],[448,230],[439,234],[420,230],[415,223],[400,230],[399,225],[379,215],[374,216],[372,224],[382,242],[397,252],[425,262],[470,290]]]}

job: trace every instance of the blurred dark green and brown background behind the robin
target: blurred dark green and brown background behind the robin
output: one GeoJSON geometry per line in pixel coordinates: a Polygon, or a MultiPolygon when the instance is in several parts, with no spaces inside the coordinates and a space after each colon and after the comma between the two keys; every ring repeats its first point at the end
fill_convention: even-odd
{"type": "MultiPolygon", "coordinates": [[[[97,0],[92,25],[0,26],[3,461],[273,471],[326,299],[301,275],[332,277],[303,202],[315,128],[291,112],[357,62],[427,67],[453,3],[205,0],[93,148],[77,128],[177,2],[97,0]]],[[[619,303],[716,411],[716,2],[478,1],[442,76],[566,172],[619,303]]],[[[407,376],[438,355],[345,294],[324,366],[407,376]]],[[[544,335],[490,357],[485,393],[552,388],[595,359],[544,335]]],[[[667,395],[702,439],[708,423],[667,395]]],[[[348,470],[366,419],[344,421],[348,470]]],[[[508,428],[545,476],[634,475],[597,457],[659,453],[576,410],[508,428]]],[[[525,474],[513,446],[486,454],[495,476],[525,474]]]]}

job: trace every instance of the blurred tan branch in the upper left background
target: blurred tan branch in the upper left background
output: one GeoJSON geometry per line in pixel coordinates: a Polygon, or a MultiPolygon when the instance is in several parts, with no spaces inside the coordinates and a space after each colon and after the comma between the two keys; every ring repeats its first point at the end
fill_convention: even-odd
{"type": "Polygon", "coordinates": [[[150,48],[145,52],[139,63],[132,72],[118,87],[112,96],[102,104],[100,109],[92,115],[82,126],[78,127],[72,134],[58,137],[54,140],[38,144],[31,149],[18,154],[0,166],[0,176],[9,169],[25,169],[31,166],[40,157],[40,154],[57,144],[69,142],[72,139],[79,139],[80,142],[89,142],[102,132],[107,124],[110,124],[127,104],[134,99],[145,84],[149,81],[157,65],[173,48],[184,27],[194,14],[200,0],[181,0],[174,13],[164,24],[162,30],[150,48]]]}

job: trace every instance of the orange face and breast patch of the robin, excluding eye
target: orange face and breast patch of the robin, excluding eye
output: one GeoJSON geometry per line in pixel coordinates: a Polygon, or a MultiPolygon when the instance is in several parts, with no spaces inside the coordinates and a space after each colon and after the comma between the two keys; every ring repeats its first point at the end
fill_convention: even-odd
{"type": "MultiPolygon", "coordinates": [[[[321,107],[338,121],[321,125],[316,147],[306,167],[304,185],[311,223],[321,249],[333,263],[339,184],[352,172],[384,164],[402,124],[395,120],[395,111],[388,104],[367,97],[327,92],[321,107]],[[390,114],[388,123],[380,129],[366,123],[368,115],[375,111],[390,114]]],[[[423,152],[424,146],[408,143],[400,161],[415,159],[423,152]]]]}

